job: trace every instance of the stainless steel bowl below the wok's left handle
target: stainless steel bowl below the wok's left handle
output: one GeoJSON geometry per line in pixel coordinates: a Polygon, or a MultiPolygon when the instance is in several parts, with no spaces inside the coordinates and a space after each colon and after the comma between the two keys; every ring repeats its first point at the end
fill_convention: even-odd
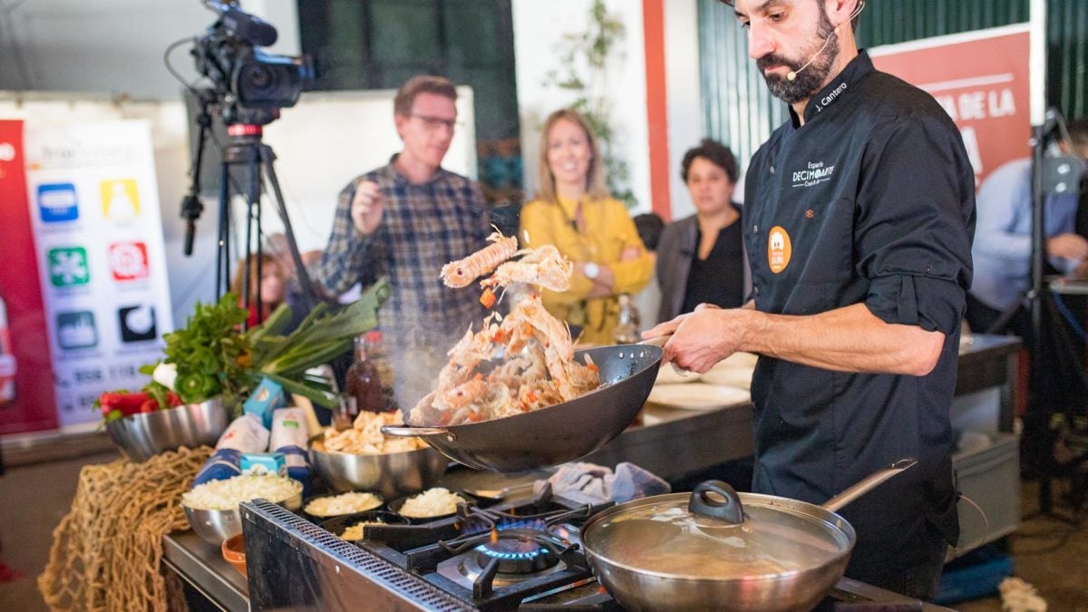
{"type": "Polygon", "coordinates": [[[435,484],[446,473],[449,460],[430,446],[404,453],[356,455],[318,451],[311,441],[310,465],[336,491],[378,491],[392,500],[435,484]]]}

